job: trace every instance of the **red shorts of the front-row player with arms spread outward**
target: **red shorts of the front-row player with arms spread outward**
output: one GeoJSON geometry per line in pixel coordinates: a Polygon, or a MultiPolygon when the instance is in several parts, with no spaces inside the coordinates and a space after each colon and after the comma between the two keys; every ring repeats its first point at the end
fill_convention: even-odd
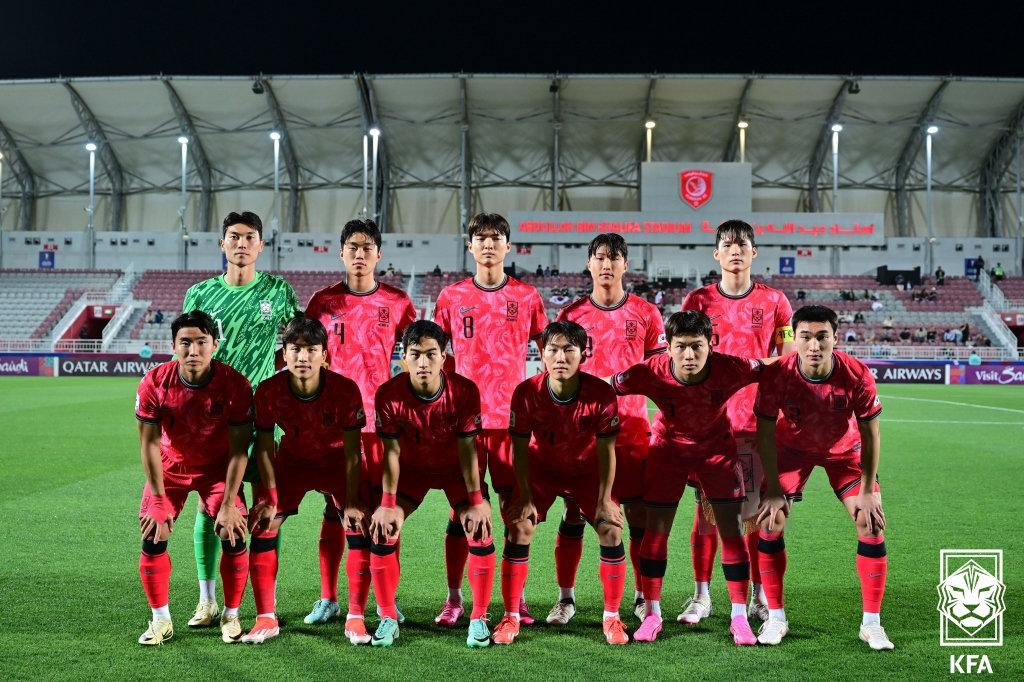
{"type": "Polygon", "coordinates": [[[680,444],[655,438],[647,451],[644,504],[675,508],[693,476],[712,504],[742,502],[743,475],[731,435],[713,444],[680,444]]]}

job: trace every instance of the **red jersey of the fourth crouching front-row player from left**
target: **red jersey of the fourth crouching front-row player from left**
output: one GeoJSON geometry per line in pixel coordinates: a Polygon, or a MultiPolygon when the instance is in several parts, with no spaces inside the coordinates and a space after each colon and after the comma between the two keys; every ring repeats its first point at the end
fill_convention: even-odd
{"type": "Polygon", "coordinates": [[[548,373],[530,377],[512,393],[509,433],[529,438],[529,456],[546,470],[573,472],[596,462],[597,438],[618,433],[615,392],[601,379],[580,373],[580,390],[559,400],[548,373]]]}

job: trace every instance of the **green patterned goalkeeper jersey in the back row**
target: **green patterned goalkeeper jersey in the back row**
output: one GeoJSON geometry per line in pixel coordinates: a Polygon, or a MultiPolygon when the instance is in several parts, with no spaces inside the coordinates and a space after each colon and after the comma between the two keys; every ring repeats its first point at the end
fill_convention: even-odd
{"type": "Polygon", "coordinates": [[[300,312],[292,286],[265,272],[244,287],[228,285],[223,275],[193,285],[182,311],[191,310],[213,317],[220,337],[213,356],[244,374],[253,390],[273,374],[279,328],[300,312]]]}

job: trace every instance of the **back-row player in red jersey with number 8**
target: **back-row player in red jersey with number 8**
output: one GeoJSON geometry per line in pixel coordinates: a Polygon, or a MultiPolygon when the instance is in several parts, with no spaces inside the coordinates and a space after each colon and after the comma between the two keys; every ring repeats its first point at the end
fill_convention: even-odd
{"type": "MultiPolygon", "coordinates": [[[[497,213],[478,213],[467,231],[476,275],[441,290],[434,322],[452,340],[456,371],[485,389],[483,430],[478,438],[480,465],[490,470],[490,484],[504,506],[515,486],[509,403],[512,391],[526,376],[526,346],[540,337],[548,321],[537,289],[505,273],[505,257],[512,249],[508,220],[497,213]],[[495,358],[499,349],[502,361],[495,358]]],[[[438,625],[454,626],[463,613],[462,574],[468,552],[464,536],[453,515],[444,537],[449,596],[434,619],[438,625]]],[[[525,601],[520,610],[523,625],[531,624],[525,601]]]]}

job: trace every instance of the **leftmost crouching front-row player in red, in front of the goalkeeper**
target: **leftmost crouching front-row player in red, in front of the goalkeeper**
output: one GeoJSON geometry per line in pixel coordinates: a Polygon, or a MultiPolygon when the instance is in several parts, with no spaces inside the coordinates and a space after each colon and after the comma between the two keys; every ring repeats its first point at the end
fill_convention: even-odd
{"type": "Polygon", "coordinates": [[[213,359],[217,328],[204,312],[186,312],[171,323],[175,359],[155,367],[139,383],[135,419],[145,486],[139,508],[142,579],[153,621],[139,644],[162,644],[174,635],[168,607],[171,559],[167,540],[190,491],[224,552],[221,638],[242,637],[239,605],[246,587],[246,504],[242,476],[252,436],[252,387],[246,378],[213,359]]]}

